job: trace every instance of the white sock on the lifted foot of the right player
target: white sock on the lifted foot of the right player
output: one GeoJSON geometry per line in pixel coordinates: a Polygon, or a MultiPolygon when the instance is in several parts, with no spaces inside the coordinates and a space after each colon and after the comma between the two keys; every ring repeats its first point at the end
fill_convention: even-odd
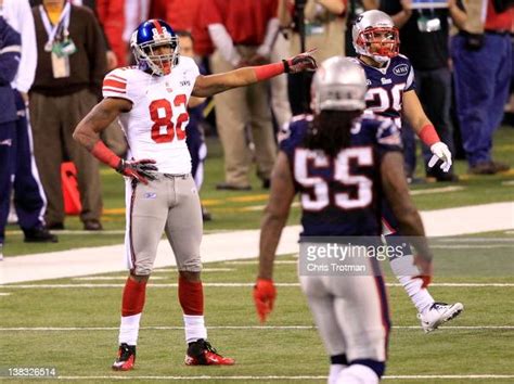
{"type": "Polygon", "coordinates": [[[414,256],[404,255],[395,258],[389,261],[389,265],[420,313],[434,304],[434,298],[428,291],[421,287],[423,281],[421,279],[412,279],[413,276],[420,273],[417,267],[414,266],[414,256]]]}

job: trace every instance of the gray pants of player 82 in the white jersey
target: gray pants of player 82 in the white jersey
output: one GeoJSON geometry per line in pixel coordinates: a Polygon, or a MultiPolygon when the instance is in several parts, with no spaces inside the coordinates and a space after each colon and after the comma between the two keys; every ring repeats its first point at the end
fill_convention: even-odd
{"type": "Polygon", "coordinates": [[[163,230],[181,271],[200,272],[203,221],[200,197],[191,175],[158,174],[147,185],[126,179],[125,254],[127,268],[149,276],[163,230]]]}

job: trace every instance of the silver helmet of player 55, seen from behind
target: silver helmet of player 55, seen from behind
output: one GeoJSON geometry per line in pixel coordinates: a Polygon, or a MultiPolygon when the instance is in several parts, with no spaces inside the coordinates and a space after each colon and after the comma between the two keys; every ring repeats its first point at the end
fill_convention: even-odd
{"type": "Polygon", "coordinates": [[[367,90],[364,69],[355,59],[326,59],[312,79],[312,111],[362,111],[367,90]]]}

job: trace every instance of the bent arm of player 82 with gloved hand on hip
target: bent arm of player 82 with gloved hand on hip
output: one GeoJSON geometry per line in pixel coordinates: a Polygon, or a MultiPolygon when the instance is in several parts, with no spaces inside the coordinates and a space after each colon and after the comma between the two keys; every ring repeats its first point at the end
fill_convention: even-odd
{"type": "Polygon", "coordinates": [[[127,162],[111,151],[102,140],[100,132],[123,112],[129,112],[132,103],[126,99],[106,98],[102,100],[78,124],[73,138],[82,144],[91,154],[102,163],[108,165],[119,174],[132,177],[143,183],[155,178],[157,167],[155,161],[144,158],[127,162]]]}

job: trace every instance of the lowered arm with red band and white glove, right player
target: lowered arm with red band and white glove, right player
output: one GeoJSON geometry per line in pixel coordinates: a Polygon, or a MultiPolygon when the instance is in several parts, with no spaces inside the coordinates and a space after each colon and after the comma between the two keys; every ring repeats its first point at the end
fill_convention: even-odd
{"type": "Polygon", "coordinates": [[[450,170],[452,159],[448,146],[439,139],[436,128],[426,116],[414,90],[403,93],[403,116],[411,125],[414,132],[431,149],[433,156],[428,162],[428,167],[436,165],[441,161],[440,168],[447,172],[450,170]]]}

